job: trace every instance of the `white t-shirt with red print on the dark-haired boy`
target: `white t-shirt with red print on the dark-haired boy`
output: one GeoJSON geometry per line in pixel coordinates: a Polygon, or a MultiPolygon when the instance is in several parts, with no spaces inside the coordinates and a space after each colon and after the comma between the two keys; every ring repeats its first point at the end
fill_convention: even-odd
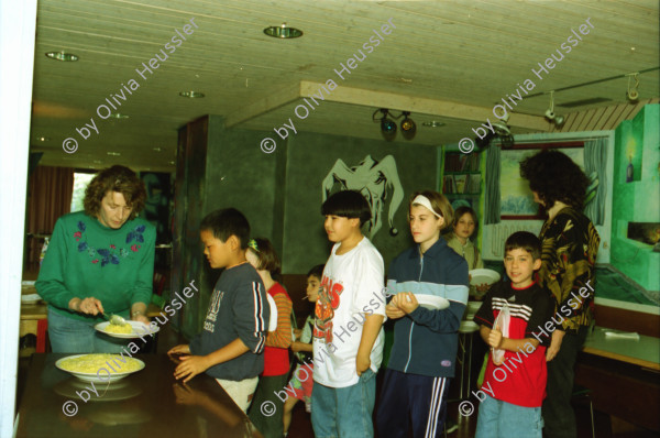
{"type": "MultiPolygon", "coordinates": [[[[345,387],[358,383],[355,365],[365,315],[385,316],[383,258],[367,239],[345,254],[334,244],[326,263],[314,327],[314,381],[345,387]]],[[[371,369],[383,361],[385,335],[378,333],[371,352],[371,369]]]]}

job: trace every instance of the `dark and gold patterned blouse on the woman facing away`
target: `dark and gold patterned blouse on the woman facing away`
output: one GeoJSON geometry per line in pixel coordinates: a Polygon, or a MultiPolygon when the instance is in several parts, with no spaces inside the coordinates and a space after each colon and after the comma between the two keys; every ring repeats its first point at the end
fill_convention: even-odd
{"type": "Polygon", "coordinates": [[[580,326],[591,325],[593,319],[594,264],[601,237],[586,216],[566,207],[543,223],[539,239],[542,242],[539,281],[552,292],[556,311],[562,307],[571,309],[571,316],[561,322],[561,328],[575,332],[580,326]],[[580,298],[581,289],[585,293],[585,287],[588,296],[575,299],[580,298]]]}

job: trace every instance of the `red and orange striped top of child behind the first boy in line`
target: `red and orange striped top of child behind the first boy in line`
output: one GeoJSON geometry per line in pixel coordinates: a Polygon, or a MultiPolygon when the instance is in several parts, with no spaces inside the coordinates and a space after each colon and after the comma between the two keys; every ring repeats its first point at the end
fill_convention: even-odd
{"type": "Polygon", "coordinates": [[[293,303],[279,283],[271,286],[268,295],[277,305],[277,329],[268,332],[266,338],[263,376],[287,374],[290,366],[288,348],[292,344],[293,303]]]}

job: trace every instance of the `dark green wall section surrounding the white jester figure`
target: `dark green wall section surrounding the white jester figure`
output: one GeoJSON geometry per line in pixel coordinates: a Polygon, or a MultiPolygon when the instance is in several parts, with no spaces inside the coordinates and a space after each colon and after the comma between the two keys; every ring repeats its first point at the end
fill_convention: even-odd
{"type": "MultiPolygon", "coordinates": [[[[407,223],[408,197],[417,189],[436,187],[437,147],[304,132],[287,140],[283,271],[306,273],[315,264],[326,262],[331,244],[323,230],[320,212],[321,183],[338,158],[348,166],[354,166],[366,155],[378,162],[393,155],[404,188],[404,200],[395,215],[398,236],[389,234],[387,201],[383,208],[383,226],[373,240],[387,270],[392,259],[413,243],[407,223]]],[[[391,196],[387,195],[388,198],[391,196]]]]}

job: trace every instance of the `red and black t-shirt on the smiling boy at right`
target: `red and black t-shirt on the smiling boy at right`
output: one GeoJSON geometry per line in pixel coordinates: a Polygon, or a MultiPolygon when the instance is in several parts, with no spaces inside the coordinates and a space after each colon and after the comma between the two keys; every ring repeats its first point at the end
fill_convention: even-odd
{"type": "Polygon", "coordinates": [[[501,365],[495,365],[492,357],[488,357],[481,390],[493,398],[513,405],[540,407],[546,397],[546,346],[549,344],[549,337],[543,336],[542,330],[546,330],[546,322],[552,321],[554,317],[554,300],[550,292],[537,283],[524,289],[515,289],[510,283],[499,282],[488,291],[474,316],[474,322],[493,328],[505,303],[510,313],[507,338],[536,338],[541,340],[541,344],[534,352],[530,342],[521,351],[505,351],[505,360],[501,365]]]}

